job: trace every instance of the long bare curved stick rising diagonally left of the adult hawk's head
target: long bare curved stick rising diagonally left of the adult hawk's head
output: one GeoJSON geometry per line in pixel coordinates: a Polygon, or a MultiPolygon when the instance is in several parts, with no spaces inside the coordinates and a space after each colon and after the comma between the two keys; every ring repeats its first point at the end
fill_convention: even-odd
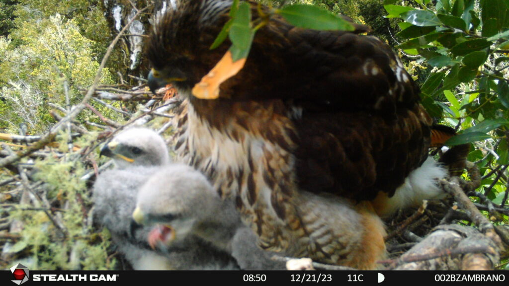
{"type": "Polygon", "coordinates": [[[68,113],[61,121],[56,123],[46,135],[42,136],[41,140],[35,142],[33,145],[29,146],[28,148],[25,148],[21,151],[16,152],[13,155],[10,155],[6,158],[0,159],[0,167],[5,167],[9,164],[12,164],[12,163],[16,162],[17,160],[19,160],[20,158],[30,155],[31,153],[33,153],[33,152],[43,148],[47,144],[49,144],[49,142],[53,141],[53,138],[55,137],[56,133],[58,133],[58,131],[62,128],[62,125],[64,125],[67,121],[70,121],[73,118],[75,118],[79,112],[81,112],[83,109],[85,109],[87,107],[85,104],[90,100],[90,98],[92,97],[92,95],[94,94],[94,92],[97,88],[97,85],[99,84],[99,81],[101,80],[102,69],[106,65],[106,62],[109,58],[109,55],[111,54],[111,51],[113,50],[113,48],[115,47],[115,45],[117,44],[119,39],[122,37],[122,35],[125,33],[127,28],[131,25],[131,23],[141,13],[143,13],[145,10],[147,10],[147,8],[149,8],[149,7],[150,7],[150,5],[143,8],[142,10],[139,10],[134,15],[134,17],[132,17],[132,19],[122,28],[122,30],[119,32],[117,37],[115,37],[115,39],[108,46],[108,49],[106,50],[106,53],[104,54],[104,57],[102,58],[101,65],[99,66],[99,69],[97,70],[96,77],[94,79],[92,86],[88,90],[87,94],[84,96],[83,100],[76,106],[76,108],[74,108],[70,113],[68,113]]]}

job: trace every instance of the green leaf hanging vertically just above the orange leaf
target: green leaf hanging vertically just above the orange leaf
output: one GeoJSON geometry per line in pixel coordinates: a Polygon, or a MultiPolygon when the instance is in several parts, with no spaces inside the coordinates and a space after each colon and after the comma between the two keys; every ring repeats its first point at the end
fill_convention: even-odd
{"type": "Polygon", "coordinates": [[[249,4],[242,2],[230,27],[230,40],[238,49],[245,50],[251,46],[253,34],[251,8],[249,4]]]}

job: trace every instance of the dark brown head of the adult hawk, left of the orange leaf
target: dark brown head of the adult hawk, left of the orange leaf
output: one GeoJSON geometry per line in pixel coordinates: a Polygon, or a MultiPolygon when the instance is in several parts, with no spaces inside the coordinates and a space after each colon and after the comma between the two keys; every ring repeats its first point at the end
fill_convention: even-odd
{"type": "Polygon", "coordinates": [[[227,45],[209,47],[228,21],[232,1],[185,1],[169,8],[156,20],[148,42],[152,64],[149,87],[152,91],[172,83],[188,94],[191,88],[219,61],[227,45]]]}

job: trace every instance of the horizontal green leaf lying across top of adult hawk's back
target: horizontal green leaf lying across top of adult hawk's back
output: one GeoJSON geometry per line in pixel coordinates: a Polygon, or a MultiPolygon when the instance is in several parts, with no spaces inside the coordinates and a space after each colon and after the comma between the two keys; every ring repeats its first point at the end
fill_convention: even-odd
{"type": "Polygon", "coordinates": [[[315,30],[355,30],[347,20],[317,6],[295,4],[276,10],[276,13],[297,27],[315,30]]]}

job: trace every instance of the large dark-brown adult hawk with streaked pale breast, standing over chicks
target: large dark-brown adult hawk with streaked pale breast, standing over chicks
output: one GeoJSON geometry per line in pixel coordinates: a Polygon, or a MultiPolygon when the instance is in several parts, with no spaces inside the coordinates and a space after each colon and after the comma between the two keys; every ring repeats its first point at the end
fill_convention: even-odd
{"type": "MultiPolygon", "coordinates": [[[[248,3],[259,17],[258,4],[248,3]]],[[[365,26],[305,30],[272,15],[219,98],[197,98],[191,89],[230,47],[209,49],[231,5],[182,1],[150,36],[149,84],[171,82],[186,99],[178,158],[236,201],[262,248],[376,267],[385,246],[373,209],[386,214],[412,202],[413,194],[394,195],[400,186],[417,197],[438,192],[433,179],[445,176],[434,162],[424,164],[432,120],[416,84],[389,46],[361,35],[365,26]]]]}

